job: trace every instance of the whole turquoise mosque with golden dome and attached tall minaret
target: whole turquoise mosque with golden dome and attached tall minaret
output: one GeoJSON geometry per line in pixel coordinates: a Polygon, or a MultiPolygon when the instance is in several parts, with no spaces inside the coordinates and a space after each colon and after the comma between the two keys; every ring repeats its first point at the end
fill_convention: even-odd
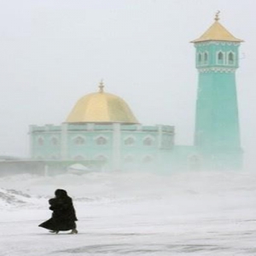
{"type": "Polygon", "coordinates": [[[196,38],[198,90],[194,145],[175,144],[175,127],[142,125],[119,96],[97,92],[83,96],[61,125],[31,125],[32,160],[103,163],[107,171],[240,170],[236,97],[238,48],[243,42],[219,22],[196,38]]]}

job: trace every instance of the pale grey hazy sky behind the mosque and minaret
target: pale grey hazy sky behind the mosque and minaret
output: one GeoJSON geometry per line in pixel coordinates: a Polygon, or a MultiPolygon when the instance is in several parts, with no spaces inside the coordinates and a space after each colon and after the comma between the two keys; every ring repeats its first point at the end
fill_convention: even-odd
{"type": "MultiPolygon", "coordinates": [[[[197,71],[189,41],[220,22],[241,45],[241,140],[256,144],[255,0],[1,0],[0,154],[29,155],[29,125],[60,125],[104,79],[142,124],[193,141],[197,71]]],[[[255,164],[256,166],[256,164],[255,164]]]]}

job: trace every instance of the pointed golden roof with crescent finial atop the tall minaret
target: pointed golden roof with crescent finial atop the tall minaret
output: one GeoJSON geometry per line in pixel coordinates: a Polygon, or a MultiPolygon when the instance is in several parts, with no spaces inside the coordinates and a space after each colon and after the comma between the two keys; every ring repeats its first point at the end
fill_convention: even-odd
{"type": "Polygon", "coordinates": [[[230,41],[230,42],[243,42],[243,40],[235,38],[224,26],[222,26],[219,20],[219,11],[215,16],[215,22],[204,32],[200,38],[193,40],[191,43],[199,43],[205,41],[230,41]]]}

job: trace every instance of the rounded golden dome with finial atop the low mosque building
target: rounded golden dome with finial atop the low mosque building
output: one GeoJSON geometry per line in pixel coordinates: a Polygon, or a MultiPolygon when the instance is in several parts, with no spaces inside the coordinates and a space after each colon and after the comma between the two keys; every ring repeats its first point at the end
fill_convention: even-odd
{"type": "Polygon", "coordinates": [[[103,83],[96,93],[83,96],[68,115],[67,123],[125,123],[138,121],[126,102],[119,96],[106,93],[103,83]]]}

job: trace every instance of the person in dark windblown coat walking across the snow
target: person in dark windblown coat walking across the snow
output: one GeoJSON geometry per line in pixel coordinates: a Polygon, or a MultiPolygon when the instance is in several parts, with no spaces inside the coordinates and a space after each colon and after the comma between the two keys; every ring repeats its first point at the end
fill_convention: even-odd
{"type": "Polygon", "coordinates": [[[50,230],[52,233],[58,234],[59,231],[72,230],[71,234],[77,234],[76,230],[77,217],[73,207],[73,201],[71,197],[67,195],[67,191],[64,189],[55,190],[55,198],[49,200],[49,210],[53,211],[51,218],[39,227],[50,230]]]}

